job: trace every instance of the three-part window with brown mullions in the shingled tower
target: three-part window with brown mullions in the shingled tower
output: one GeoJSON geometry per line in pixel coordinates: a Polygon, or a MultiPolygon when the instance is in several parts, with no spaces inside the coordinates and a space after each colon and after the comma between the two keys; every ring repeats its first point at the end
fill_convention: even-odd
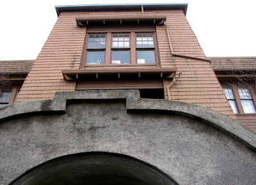
{"type": "Polygon", "coordinates": [[[154,64],[156,33],[99,33],[86,36],[83,64],[154,64]]]}

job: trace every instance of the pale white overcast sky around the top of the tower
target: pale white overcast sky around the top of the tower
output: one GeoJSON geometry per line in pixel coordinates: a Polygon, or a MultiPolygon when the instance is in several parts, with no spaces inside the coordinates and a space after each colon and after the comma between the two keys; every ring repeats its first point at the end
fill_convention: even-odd
{"type": "MultiPolygon", "coordinates": [[[[58,18],[55,5],[118,3],[116,0],[2,0],[0,60],[36,59],[58,18]]],[[[256,0],[122,0],[122,3],[188,3],[186,18],[207,57],[256,56],[256,0]]]]}

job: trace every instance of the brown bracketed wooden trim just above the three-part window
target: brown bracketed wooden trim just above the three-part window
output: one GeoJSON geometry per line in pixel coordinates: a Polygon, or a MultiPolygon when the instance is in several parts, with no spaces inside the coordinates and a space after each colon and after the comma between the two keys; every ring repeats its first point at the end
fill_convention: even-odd
{"type": "Polygon", "coordinates": [[[107,21],[118,21],[122,24],[125,20],[137,20],[138,22],[140,22],[140,20],[152,20],[156,25],[163,25],[165,19],[166,16],[77,17],[76,24],[78,27],[84,27],[86,25],[90,25],[90,22],[102,22],[102,24],[106,24],[107,21]]]}

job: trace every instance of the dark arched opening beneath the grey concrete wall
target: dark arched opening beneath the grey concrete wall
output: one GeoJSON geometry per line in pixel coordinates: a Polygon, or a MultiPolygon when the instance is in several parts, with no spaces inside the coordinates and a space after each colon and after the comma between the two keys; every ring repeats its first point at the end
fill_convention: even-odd
{"type": "Polygon", "coordinates": [[[152,165],[122,154],[86,152],[52,159],[11,184],[177,184],[152,165]]]}

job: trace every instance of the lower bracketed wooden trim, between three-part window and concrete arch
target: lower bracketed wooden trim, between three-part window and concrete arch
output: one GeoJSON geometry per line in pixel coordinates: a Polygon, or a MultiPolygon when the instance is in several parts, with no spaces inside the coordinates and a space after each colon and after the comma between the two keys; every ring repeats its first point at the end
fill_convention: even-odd
{"type": "MultiPolygon", "coordinates": [[[[113,75],[116,74],[116,77],[120,77],[120,74],[138,74],[140,77],[141,74],[157,74],[163,77],[163,74],[167,78],[173,78],[175,75],[176,69],[174,68],[143,68],[143,69],[90,69],[90,70],[63,70],[61,71],[63,78],[65,80],[75,80],[78,75],[95,75],[99,74],[104,75],[113,75]],[[119,74],[119,75],[118,75],[119,74]]],[[[159,77],[160,77],[159,76],[159,77]]]]}

